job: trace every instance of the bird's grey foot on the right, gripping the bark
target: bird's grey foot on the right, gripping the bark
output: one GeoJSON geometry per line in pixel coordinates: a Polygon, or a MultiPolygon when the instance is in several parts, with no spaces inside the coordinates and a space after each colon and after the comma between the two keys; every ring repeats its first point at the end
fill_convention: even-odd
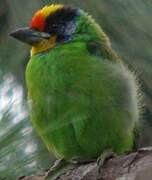
{"type": "Polygon", "coordinates": [[[98,166],[103,166],[107,160],[109,160],[110,158],[113,158],[115,156],[116,156],[116,154],[110,149],[103,151],[102,154],[97,159],[98,166]]]}

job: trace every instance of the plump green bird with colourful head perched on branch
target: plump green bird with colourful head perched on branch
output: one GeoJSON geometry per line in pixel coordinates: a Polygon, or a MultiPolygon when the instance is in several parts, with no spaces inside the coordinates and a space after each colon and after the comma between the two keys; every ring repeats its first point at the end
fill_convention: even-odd
{"type": "Polygon", "coordinates": [[[91,16],[48,5],[11,36],[32,46],[26,68],[30,117],[51,153],[85,161],[134,147],[138,83],[91,16]]]}

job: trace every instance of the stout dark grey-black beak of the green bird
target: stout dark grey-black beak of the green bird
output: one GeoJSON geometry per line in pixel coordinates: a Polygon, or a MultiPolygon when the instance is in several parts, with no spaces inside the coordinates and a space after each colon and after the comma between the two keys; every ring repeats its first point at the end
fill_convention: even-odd
{"type": "Polygon", "coordinates": [[[45,32],[40,32],[31,28],[21,28],[10,33],[10,36],[30,45],[34,45],[44,39],[49,39],[50,34],[45,32]]]}

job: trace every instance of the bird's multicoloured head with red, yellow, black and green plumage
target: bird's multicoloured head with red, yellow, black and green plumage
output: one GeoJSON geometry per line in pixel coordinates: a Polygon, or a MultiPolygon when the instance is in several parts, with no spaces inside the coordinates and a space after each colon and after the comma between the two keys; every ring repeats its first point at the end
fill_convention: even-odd
{"type": "Polygon", "coordinates": [[[61,4],[43,7],[35,13],[30,27],[17,29],[10,35],[30,44],[32,56],[70,41],[90,41],[96,38],[107,41],[91,16],[81,9],[61,4]]]}

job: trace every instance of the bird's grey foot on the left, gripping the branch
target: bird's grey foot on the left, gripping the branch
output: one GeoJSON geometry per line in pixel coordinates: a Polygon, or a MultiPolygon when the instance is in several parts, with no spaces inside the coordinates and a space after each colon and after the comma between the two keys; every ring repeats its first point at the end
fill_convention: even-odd
{"type": "Polygon", "coordinates": [[[54,165],[50,168],[50,170],[46,173],[45,179],[53,180],[60,174],[64,173],[67,169],[70,169],[72,167],[72,163],[64,159],[58,159],[54,162],[54,165]]]}

